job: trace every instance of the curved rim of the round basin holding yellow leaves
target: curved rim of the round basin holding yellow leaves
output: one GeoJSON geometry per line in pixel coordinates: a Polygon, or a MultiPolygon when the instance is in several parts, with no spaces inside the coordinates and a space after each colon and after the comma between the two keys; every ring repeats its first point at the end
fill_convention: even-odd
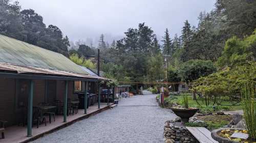
{"type": "Polygon", "coordinates": [[[220,129],[211,131],[211,137],[214,138],[215,140],[219,141],[220,143],[239,143],[238,141],[233,141],[226,137],[220,136],[219,134],[222,130],[234,131],[234,130],[245,130],[245,129],[242,129],[242,128],[220,128],[220,129]]]}

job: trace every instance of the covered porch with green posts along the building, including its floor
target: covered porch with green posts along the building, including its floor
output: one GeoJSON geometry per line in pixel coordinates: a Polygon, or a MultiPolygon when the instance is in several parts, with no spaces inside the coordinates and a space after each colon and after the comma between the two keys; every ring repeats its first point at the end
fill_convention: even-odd
{"type": "Polygon", "coordinates": [[[7,121],[4,131],[5,138],[0,138],[0,142],[27,142],[83,118],[88,118],[111,105],[100,103],[101,87],[99,82],[105,79],[68,72],[63,74],[63,71],[57,72],[56,70],[48,70],[48,74],[45,74],[45,70],[40,69],[38,74],[35,72],[38,69],[34,67],[0,64],[0,120],[7,121]],[[24,68],[23,73],[17,73],[14,70],[20,68],[24,68]],[[30,71],[26,71],[28,68],[30,71]],[[52,73],[49,74],[49,72],[52,73]],[[82,86],[81,89],[83,89],[79,94],[74,90],[77,81],[80,81],[78,85],[82,86]],[[96,84],[94,92],[89,83],[96,84]],[[98,98],[97,103],[90,104],[91,106],[88,104],[90,92],[96,94],[98,98]],[[78,106],[78,103],[81,104],[81,101],[78,100],[81,95],[84,97],[82,98],[82,108],[78,106]],[[75,100],[77,105],[75,107],[72,105],[72,107],[71,103],[75,100]],[[61,105],[58,106],[56,101],[61,105]],[[40,103],[49,103],[49,105],[39,105],[40,103]],[[40,111],[41,115],[37,116],[44,116],[47,125],[39,120],[40,124],[37,128],[34,121],[38,118],[35,118],[35,107],[41,109],[53,107],[54,110],[51,110],[51,112],[55,116],[55,121],[54,116],[50,118],[50,116],[44,115],[40,111]],[[56,108],[58,109],[55,110],[56,108]],[[70,108],[73,109],[73,112],[70,112],[70,108]]]}

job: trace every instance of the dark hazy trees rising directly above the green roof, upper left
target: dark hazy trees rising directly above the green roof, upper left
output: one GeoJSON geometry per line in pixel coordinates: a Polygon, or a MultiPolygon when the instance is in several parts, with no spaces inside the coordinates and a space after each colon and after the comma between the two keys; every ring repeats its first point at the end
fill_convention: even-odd
{"type": "Polygon", "coordinates": [[[0,1],[0,34],[68,56],[68,37],[55,25],[43,22],[34,10],[22,10],[18,2],[0,1]]]}

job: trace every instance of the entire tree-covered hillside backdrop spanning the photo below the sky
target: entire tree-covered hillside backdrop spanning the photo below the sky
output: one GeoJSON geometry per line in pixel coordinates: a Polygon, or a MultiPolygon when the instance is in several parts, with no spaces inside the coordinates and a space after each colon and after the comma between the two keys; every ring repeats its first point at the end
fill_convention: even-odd
{"type": "MultiPolygon", "coordinates": [[[[69,39],[54,25],[46,26],[34,10],[21,10],[18,2],[0,1],[0,34],[71,56],[79,65],[94,68],[93,45],[78,43],[68,51],[69,39]]],[[[175,20],[175,19],[174,19],[175,20]]],[[[217,0],[210,12],[198,15],[199,23],[185,20],[181,35],[172,28],[156,37],[146,23],[128,28],[124,38],[111,44],[99,38],[101,70],[119,81],[165,81],[167,57],[168,81],[193,81],[201,76],[255,61],[256,1],[217,0]],[[159,42],[162,41],[162,42],[159,42]],[[162,43],[162,44],[160,44],[162,43]]]]}

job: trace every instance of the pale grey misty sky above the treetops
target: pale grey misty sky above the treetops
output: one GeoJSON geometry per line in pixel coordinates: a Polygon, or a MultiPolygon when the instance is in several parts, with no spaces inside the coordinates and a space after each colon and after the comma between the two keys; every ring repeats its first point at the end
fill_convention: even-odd
{"type": "Polygon", "coordinates": [[[183,22],[197,25],[201,11],[209,12],[215,0],[18,0],[22,9],[33,9],[44,22],[60,28],[70,40],[119,40],[129,27],[145,22],[161,40],[165,28],[180,35],[183,22]]]}

